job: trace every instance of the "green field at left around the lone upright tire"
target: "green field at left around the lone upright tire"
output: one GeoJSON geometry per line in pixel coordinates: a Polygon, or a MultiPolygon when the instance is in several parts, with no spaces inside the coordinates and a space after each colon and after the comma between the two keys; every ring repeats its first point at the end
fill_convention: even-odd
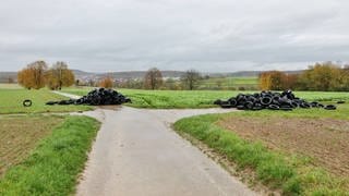
{"type": "Polygon", "coordinates": [[[49,100],[62,100],[65,97],[56,95],[48,89],[27,90],[14,86],[0,85],[0,114],[7,113],[43,113],[43,112],[70,112],[92,109],[88,106],[46,106],[49,100]],[[14,87],[14,88],[13,88],[14,87]],[[23,107],[25,99],[33,101],[32,107],[23,107]]]}

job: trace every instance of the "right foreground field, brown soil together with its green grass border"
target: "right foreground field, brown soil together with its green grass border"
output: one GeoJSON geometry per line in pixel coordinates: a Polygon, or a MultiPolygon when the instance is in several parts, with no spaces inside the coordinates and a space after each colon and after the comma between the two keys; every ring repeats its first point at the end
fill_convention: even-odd
{"type": "Polygon", "coordinates": [[[242,111],[188,118],[174,127],[284,194],[346,195],[348,113],[349,103],[335,111],[242,111]]]}

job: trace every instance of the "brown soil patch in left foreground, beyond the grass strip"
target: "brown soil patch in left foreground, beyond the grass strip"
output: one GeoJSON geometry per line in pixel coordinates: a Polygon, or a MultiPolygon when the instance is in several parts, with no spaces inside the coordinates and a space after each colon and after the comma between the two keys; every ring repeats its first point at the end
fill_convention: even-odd
{"type": "Polygon", "coordinates": [[[63,117],[0,117],[0,176],[20,163],[63,117]]]}

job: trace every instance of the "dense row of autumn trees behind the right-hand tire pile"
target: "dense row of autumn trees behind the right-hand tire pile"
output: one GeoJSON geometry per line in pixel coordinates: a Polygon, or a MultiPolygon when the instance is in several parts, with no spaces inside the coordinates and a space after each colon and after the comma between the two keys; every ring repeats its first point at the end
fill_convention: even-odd
{"type": "Polygon", "coordinates": [[[260,74],[261,89],[348,91],[349,65],[340,66],[333,62],[315,63],[300,74],[269,71],[260,74]]]}

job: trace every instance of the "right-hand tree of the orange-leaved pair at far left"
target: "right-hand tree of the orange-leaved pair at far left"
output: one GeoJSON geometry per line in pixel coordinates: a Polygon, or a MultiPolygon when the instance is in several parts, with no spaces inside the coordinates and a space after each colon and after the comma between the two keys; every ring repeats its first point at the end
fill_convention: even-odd
{"type": "Polygon", "coordinates": [[[74,73],[69,70],[68,64],[62,61],[56,62],[47,74],[47,86],[50,89],[62,89],[62,87],[72,86],[75,82],[74,73]]]}

